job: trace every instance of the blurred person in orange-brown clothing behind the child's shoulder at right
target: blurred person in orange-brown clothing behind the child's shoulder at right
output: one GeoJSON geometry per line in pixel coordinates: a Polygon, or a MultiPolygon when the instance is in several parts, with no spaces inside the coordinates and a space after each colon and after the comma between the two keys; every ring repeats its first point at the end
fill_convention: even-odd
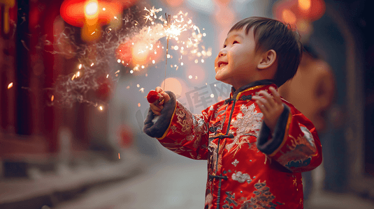
{"type": "MultiPolygon", "coordinates": [[[[312,121],[322,141],[321,136],[326,131],[326,111],[335,94],[335,81],[329,64],[319,59],[310,46],[304,45],[304,49],[295,77],[280,86],[278,91],[282,98],[312,121]]],[[[306,201],[312,192],[312,171],[303,172],[302,176],[306,201]]]]}

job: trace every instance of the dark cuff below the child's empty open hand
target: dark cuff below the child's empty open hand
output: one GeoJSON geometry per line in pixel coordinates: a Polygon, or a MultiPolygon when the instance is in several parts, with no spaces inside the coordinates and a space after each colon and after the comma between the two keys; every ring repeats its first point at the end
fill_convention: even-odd
{"type": "Polygon", "coordinates": [[[270,135],[270,128],[262,121],[261,129],[259,132],[259,137],[257,138],[257,148],[266,155],[270,155],[282,144],[285,138],[285,131],[287,127],[287,121],[289,116],[289,107],[283,104],[285,109],[278,118],[277,125],[275,125],[273,137],[270,135]]]}

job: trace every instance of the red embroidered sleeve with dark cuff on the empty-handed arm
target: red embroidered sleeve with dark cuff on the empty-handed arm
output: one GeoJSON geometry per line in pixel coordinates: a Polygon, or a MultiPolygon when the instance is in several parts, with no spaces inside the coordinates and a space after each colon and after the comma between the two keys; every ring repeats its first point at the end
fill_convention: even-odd
{"type": "Polygon", "coordinates": [[[322,146],[315,126],[292,104],[286,104],[273,134],[262,122],[257,148],[291,172],[315,169],[322,162],[322,146]]]}

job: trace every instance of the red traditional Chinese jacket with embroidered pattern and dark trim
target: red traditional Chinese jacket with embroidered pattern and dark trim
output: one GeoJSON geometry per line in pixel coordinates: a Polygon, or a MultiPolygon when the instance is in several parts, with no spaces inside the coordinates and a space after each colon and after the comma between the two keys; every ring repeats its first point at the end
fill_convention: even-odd
{"type": "MultiPolygon", "coordinates": [[[[175,100],[161,116],[148,113],[144,132],[174,153],[208,160],[205,208],[303,208],[301,172],[322,162],[314,125],[282,101],[273,133],[252,95],[277,86],[262,80],[243,86],[230,98],[192,114],[175,100]]],[[[271,93],[271,91],[268,91],[271,93]]]]}

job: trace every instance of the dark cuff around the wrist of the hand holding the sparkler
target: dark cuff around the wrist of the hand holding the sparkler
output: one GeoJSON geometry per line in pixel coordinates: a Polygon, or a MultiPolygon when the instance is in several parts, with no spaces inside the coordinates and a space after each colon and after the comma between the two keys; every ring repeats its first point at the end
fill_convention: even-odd
{"type": "Polygon", "coordinates": [[[164,104],[164,109],[161,110],[161,115],[157,119],[156,123],[152,122],[154,114],[151,109],[148,111],[147,118],[145,118],[143,132],[150,137],[162,137],[166,130],[168,130],[168,126],[171,123],[171,117],[173,116],[177,100],[175,99],[173,92],[165,92],[170,96],[170,100],[164,104]]]}

